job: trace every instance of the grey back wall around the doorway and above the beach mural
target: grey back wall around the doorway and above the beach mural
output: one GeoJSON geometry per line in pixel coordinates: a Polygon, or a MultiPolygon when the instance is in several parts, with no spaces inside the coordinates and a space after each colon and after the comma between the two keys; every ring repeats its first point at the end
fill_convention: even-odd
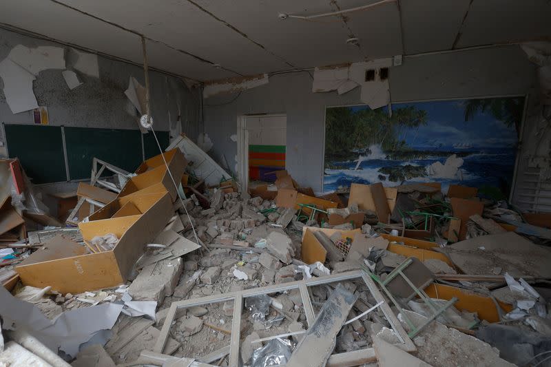
{"type": "MultiPolygon", "coordinates": [[[[409,56],[390,72],[393,102],[437,98],[526,94],[535,84],[535,67],[517,46],[409,56]]],[[[362,104],[360,90],[342,96],[312,93],[306,72],[271,76],[267,85],[239,96],[205,100],[205,132],[214,142],[210,154],[234,170],[237,118],[242,114],[287,114],[287,169],[300,185],[322,187],[325,108],[362,104]]]]}

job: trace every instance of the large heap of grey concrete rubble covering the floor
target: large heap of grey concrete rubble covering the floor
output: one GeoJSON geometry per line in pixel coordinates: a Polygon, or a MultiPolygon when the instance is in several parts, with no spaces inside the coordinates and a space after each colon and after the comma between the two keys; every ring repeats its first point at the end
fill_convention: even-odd
{"type": "MultiPolygon", "coordinates": [[[[300,187],[294,188],[302,190],[300,187]]],[[[163,326],[174,302],[210,297],[215,301],[178,308],[174,317],[170,316],[163,354],[176,358],[170,359],[171,363],[180,363],[181,358],[187,357],[207,364],[229,366],[229,344],[236,327],[233,325],[236,310],[233,298],[226,295],[362,271],[381,293],[384,291],[380,284],[391,277],[388,289],[397,290],[393,293],[394,297],[403,295],[404,298],[399,300],[398,305],[392,304],[388,295],[380,301],[361,277],[307,286],[306,294],[310,302],[306,304],[302,299],[304,289],[301,292],[296,286],[267,295],[247,296],[243,299],[240,319],[238,362],[248,366],[255,356],[262,355],[262,348],[272,345],[270,341],[280,335],[278,340],[282,344],[278,345],[285,348],[289,366],[341,366],[340,363],[344,363],[342,360],[353,357],[358,350],[370,350],[367,354],[371,355],[371,359],[362,361],[368,366],[375,363],[379,366],[508,366],[513,357],[502,353],[507,360],[502,359],[492,346],[508,350],[510,345],[497,340],[499,333],[485,327],[497,322],[507,323],[512,325],[508,327],[523,331],[523,335],[528,335],[528,331],[533,333],[530,342],[539,340],[534,339],[533,335],[543,335],[544,339],[551,337],[548,317],[551,292],[543,284],[535,282],[538,274],[523,273],[523,269],[530,267],[530,264],[525,264],[524,268],[512,266],[517,264],[517,260],[508,258],[508,253],[501,251],[503,246],[499,247],[498,241],[487,242],[485,247],[485,237],[491,240],[492,237],[488,236],[508,235],[501,232],[499,216],[494,215],[506,213],[498,210],[499,207],[488,209],[493,213],[494,218],[491,219],[485,213],[471,216],[471,229],[477,225],[481,228],[470,231],[470,235],[478,233],[478,237],[472,237],[470,242],[458,238],[455,244],[446,246],[444,242],[448,240],[429,241],[451,237],[444,237],[444,232],[448,232],[451,225],[450,213],[438,214],[441,216],[438,218],[445,219],[437,220],[426,233],[420,229],[421,226],[417,229],[399,227],[415,222],[409,221],[411,218],[419,219],[415,216],[412,202],[428,206],[433,205],[434,200],[447,199],[439,191],[431,190],[418,186],[397,189],[395,205],[401,208],[399,211],[403,216],[389,207],[392,223],[378,220],[375,207],[366,209],[357,203],[345,207],[342,203],[346,202],[346,198],[337,194],[337,198],[330,198],[334,202],[327,198],[315,198],[332,203],[331,210],[327,214],[311,215],[304,211],[304,207],[299,212],[295,203],[281,204],[281,198],[277,196],[252,194],[246,198],[236,192],[233,185],[188,191],[191,196],[183,205],[176,200],[173,215],[157,237],[157,242],[180,238],[179,241],[184,241],[181,243],[193,242],[197,246],[194,250],[178,252],[176,247],[169,248],[171,244],[146,249],[146,265],[135,266],[132,277],[119,288],[92,289],[93,292],[76,295],[48,289],[37,293],[36,300],[32,300],[34,293],[21,293],[19,297],[31,297],[28,299],[50,318],[96,302],[119,302],[138,310],[123,311],[125,315],[119,317],[111,330],[112,335],[101,339],[96,345],[83,348],[72,362],[73,366],[100,363],[114,366],[143,358],[142,352],[154,350],[158,337],[163,334],[163,326]],[[335,216],[342,218],[335,219],[335,216]],[[352,216],[355,220],[345,219],[352,216]],[[477,246],[466,247],[470,243],[477,246]],[[166,252],[167,248],[170,253],[166,252]],[[462,272],[446,253],[456,257],[461,255],[458,259],[465,269],[475,269],[477,264],[481,264],[480,271],[462,272]],[[472,255],[484,258],[484,261],[471,260],[472,255]],[[410,259],[420,261],[415,260],[415,265],[411,265],[408,262],[410,259]],[[492,261],[495,259],[503,261],[494,264],[492,261]],[[419,280],[415,274],[408,273],[408,266],[422,266],[422,272],[417,273],[430,276],[419,280]],[[433,308],[415,297],[413,300],[406,299],[406,295],[415,292],[407,288],[405,280],[399,280],[400,275],[395,276],[398,267],[413,284],[424,289],[433,306],[444,306],[452,297],[459,300],[448,306],[437,321],[428,322],[420,333],[409,340],[411,344],[407,343],[407,335],[400,334],[396,324],[393,326],[389,321],[386,312],[400,313],[402,327],[411,331],[404,315],[420,326],[427,318],[412,311],[430,317],[433,308]],[[508,278],[509,274],[514,277],[514,283],[508,278]],[[526,280],[519,279],[523,275],[530,276],[525,276],[526,280]],[[428,281],[425,282],[425,279],[428,281]],[[506,280],[509,286],[501,286],[499,282],[506,280]],[[401,283],[396,285],[395,282],[401,283]],[[216,302],[218,297],[220,302],[216,302]],[[253,299],[255,302],[249,302],[253,299]],[[497,302],[501,302],[499,310],[495,307],[497,302]],[[390,311],[382,310],[382,304],[390,311]],[[132,316],[140,311],[139,316],[132,316]],[[309,325],[309,321],[313,323],[309,325]],[[477,336],[480,333],[481,338],[486,337],[491,345],[472,336],[475,331],[478,331],[477,336]]],[[[311,190],[304,192],[311,193],[311,190]]],[[[382,202],[391,202],[384,199],[382,202]]],[[[449,207],[441,204],[437,210],[444,211],[449,207]]],[[[528,241],[526,238],[523,240],[528,241]]],[[[277,343],[273,342],[273,345],[277,343]]],[[[521,348],[517,344],[512,348],[521,348]]],[[[0,361],[12,355],[11,351],[17,348],[10,341],[6,346],[9,353],[0,353],[0,361]]],[[[534,346],[522,348],[523,359],[517,358],[515,361],[528,361],[539,351],[534,346]]]]}

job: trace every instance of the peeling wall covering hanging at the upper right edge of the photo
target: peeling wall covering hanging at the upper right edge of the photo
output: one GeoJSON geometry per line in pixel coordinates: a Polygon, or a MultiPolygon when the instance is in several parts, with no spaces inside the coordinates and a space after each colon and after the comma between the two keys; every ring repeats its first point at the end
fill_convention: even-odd
{"type": "Polygon", "coordinates": [[[539,65],[537,76],[541,89],[541,101],[544,105],[551,105],[551,42],[528,42],[521,44],[528,59],[539,65]]]}

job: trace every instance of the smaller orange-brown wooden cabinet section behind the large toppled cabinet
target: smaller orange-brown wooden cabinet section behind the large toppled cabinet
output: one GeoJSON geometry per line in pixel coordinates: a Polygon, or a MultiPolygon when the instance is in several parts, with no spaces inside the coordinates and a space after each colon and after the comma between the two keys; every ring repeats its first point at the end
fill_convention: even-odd
{"type": "MultiPolygon", "coordinates": [[[[176,182],[182,180],[184,169],[187,166],[187,160],[179,149],[171,149],[163,154],[167,165],[170,169],[170,174],[176,182]]],[[[125,187],[118,193],[118,198],[129,196],[134,193],[142,195],[144,193],[160,193],[168,191],[172,202],[178,198],[176,187],[170,177],[163,157],[158,154],[148,160],[145,160],[138,169],[137,176],[130,178],[125,187]]]]}

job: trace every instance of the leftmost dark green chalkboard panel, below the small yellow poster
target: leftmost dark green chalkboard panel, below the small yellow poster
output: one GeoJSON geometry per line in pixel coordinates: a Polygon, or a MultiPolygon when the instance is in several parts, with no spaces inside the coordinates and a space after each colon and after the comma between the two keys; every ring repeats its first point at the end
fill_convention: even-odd
{"type": "Polygon", "coordinates": [[[10,158],[19,158],[32,183],[67,180],[61,127],[5,124],[10,158]]]}

